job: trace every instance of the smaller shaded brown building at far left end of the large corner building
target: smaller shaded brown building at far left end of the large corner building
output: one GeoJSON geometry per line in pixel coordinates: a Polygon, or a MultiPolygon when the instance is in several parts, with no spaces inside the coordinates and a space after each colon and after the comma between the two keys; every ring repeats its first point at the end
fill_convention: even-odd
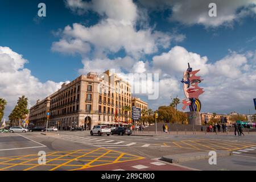
{"type": "Polygon", "coordinates": [[[28,120],[30,124],[35,126],[44,126],[46,123],[46,112],[49,110],[51,98],[47,97],[44,100],[36,101],[36,105],[30,108],[28,120]]]}

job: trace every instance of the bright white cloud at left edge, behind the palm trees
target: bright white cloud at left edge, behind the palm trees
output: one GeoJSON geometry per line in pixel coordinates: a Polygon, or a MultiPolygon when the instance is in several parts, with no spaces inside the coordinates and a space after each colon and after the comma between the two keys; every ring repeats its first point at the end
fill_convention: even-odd
{"type": "Polygon", "coordinates": [[[9,47],[0,46],[0,63],[0,97],[8,102],[5,110],[6,119],[16,105],[18,97],[22,95],[28,97],[31,106],[36,100],[55,92],[63,83],[40,82],[31,75],[29,69],[24,68],[24,64],[28,61],[9,47]]]}

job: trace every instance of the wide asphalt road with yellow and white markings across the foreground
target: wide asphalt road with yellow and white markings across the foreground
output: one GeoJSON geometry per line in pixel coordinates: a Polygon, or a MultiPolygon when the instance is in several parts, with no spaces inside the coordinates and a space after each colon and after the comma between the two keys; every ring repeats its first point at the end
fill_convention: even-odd
{"type": "Polygon", "coordinates": [[[0,133],[0,170],[256,170],[255,135],[90,136],[88,131],[0,133]],[[226,150],[232,156],[170,164],[163,155],[226,150]],[[39,151],[46,164],[39,164],[39,151]]]}

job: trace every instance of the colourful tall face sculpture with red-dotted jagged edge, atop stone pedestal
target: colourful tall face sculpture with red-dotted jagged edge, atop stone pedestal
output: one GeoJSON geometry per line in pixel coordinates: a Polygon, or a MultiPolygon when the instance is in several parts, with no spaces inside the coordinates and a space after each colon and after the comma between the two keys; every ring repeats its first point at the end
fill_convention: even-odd
{"type": "Polygon", "coordinates": [[[185,110],[187,106],[189,106],[190,111],[200,111],[201,110],[201,102],[199,100],[199,96],[204,93],[203,88],[200,88],[198,84],[203,81],[200,76],[196,76],[196,73],[199,70],[192,71],[192,68],[188,68],[187,71],[183,73],[183,91],[185,94],[185,99],[183,100],[182,109],[185,110]]]}

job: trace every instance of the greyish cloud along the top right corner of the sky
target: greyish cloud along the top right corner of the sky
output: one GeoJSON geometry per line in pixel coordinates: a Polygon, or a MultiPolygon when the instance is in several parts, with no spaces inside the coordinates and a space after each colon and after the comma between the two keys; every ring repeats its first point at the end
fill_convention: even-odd
{"type": "Polygon", "coordinates": [[[205,27],[232,26],[235,20],[256,13],[255,0],[140,0],[139,2],[149,9],[171,9],[171,21],[187,25],[203,24],[205,27]],[[208,15],[208,5],[212,2],[217,5],[217,17],[208,15]]]}

